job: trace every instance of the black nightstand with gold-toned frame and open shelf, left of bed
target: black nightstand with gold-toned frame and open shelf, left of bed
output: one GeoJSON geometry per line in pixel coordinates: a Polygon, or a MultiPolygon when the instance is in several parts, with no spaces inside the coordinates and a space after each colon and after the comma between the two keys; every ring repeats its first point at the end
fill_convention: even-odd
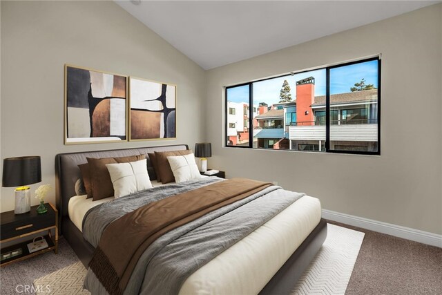
{"type": "Polygon", "coordinates": [[[3,254],[10,253],[10,258],[5,258],[0,261],[0,266],[8,265],[16,261],[25,260],[32,256],[43,254],[48,251],[54,251],[57,254],[58,251],[58,211],[54,205],[46,203],[48,211],[44,214],[37,213],[37,207],[30,207],[30,212],[23,214],[15,214],[14,211],[8,211],[1,213],[1,233],[0,233],[0,247],[1,247],[1,257],[3,254]],[[55,235],[52,235],[51,230],[55,231],[55,235]],[[47,231],[47,234],[44,233],[47,231]],[[19,242],[15,245],[10,245],[4,247],[6,242],[12,240],[17,240],[26,236],[36,235],[41,233],[44,236],[46,242],[48,242],[48,247],[29,253],[28,244],[32,240],[26,240],[19,242]],[[20,253],[18,255],[14,255],[20,253]]]}

